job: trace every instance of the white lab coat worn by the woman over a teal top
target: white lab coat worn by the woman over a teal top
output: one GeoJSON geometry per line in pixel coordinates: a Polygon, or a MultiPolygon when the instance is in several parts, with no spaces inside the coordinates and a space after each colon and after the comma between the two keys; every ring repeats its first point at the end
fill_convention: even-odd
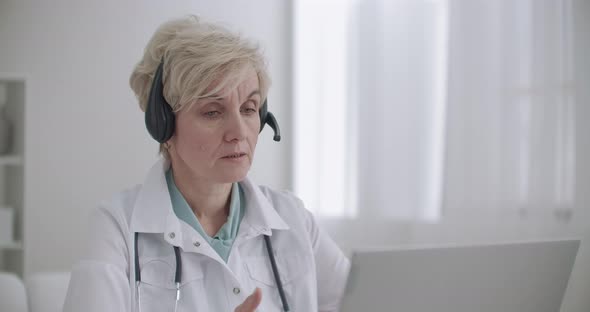
{"type": "Polygon", "coordinates": [[[259,312],[282,311],[262,235],[272,234],[291,311],[337,311],[350,263],[291,193],[245,179],[246,213],[227,264],[174,214],[166,186],[169,162],[159,160],[143,185],[101,203],[90,218],[88,252],[72,271],[65,312],[138,311],[134,232],[139,232],[141,311],[174,311],[175,257],[182,283],[178,311],[231,311],[256,287],[259,312]],[[174,233],[174,235],[171,235],[174,233]]]}

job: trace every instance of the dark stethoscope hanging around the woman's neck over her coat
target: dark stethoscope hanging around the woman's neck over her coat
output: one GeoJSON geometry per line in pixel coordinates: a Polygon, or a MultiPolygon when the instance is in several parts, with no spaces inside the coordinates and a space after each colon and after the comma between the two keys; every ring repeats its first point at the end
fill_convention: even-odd
{"type": "MultiPolygon", "coordinates": [[[[134,239],[134,249],[135,249],[135,288],[137,290],[137,307],[138,311],[141,312],[141,272],[139,269],[139,253],[137,248],[137,236],[138,232],[135,232],[135,239],[134,239]]],[[[289,305],[287,304],[287,298],[285,297],[285,291],[283,290],[283,283],[281,283],[281,277],[279,275],[279,270],[277,269],[277,262],[275,261],[275,256],[272,249],[272,244],[270,243],[270,236],[264,235],[264,241],[266,242],[266,251],[268,252],[268,257],[270,258],[270,264],[272,266],[272,273],[275,277],[275,282],[277,283],[277,287],[279,288],[279,296],[281,297],[281,302],[283,303],[283,311],[289,311],[289,305]]],[[[178,302],[180,301],[180,281],[182,276],[182,262],[180,260],[180,248],[178,246],[174,246],[174,256],[176,258],[176,272],[174,273],[174,284],[176,285],[176,300],[174,302],[174,312],[178,308],[178,302]]]]}

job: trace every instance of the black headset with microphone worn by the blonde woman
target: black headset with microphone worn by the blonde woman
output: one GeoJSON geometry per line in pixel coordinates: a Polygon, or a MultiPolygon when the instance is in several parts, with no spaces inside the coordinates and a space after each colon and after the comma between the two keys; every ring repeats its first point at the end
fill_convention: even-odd
{"type": "MultiPolygon", "coordinates": [[[[154,140],[159,143],[168,141],[174,134],[175,115],[172,106],[164,98],[164,83],[162,82],[164,71],[164,58],[158,65],[152,88],[145,110],[145,126],[154,140]]],[[[260,132],[265,124],[268,124],[274,131],[273,140],[281,140],[281,129],[275,116],[268,111],[268,100],[265,99],[262,107],[258,110],[260,115],[260,132]]]]}

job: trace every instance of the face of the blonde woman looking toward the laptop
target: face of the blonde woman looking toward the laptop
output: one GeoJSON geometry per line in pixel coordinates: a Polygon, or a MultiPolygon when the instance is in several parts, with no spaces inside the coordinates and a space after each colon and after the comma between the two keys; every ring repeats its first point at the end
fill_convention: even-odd
{"type": "Polygon", "coordinates": [[[258,75],[252,67],[233,89],[198,100],[176,114],[170,139],[173,168],[212,183],[242,180],[254,157],[260,116],[258,75]]]}

